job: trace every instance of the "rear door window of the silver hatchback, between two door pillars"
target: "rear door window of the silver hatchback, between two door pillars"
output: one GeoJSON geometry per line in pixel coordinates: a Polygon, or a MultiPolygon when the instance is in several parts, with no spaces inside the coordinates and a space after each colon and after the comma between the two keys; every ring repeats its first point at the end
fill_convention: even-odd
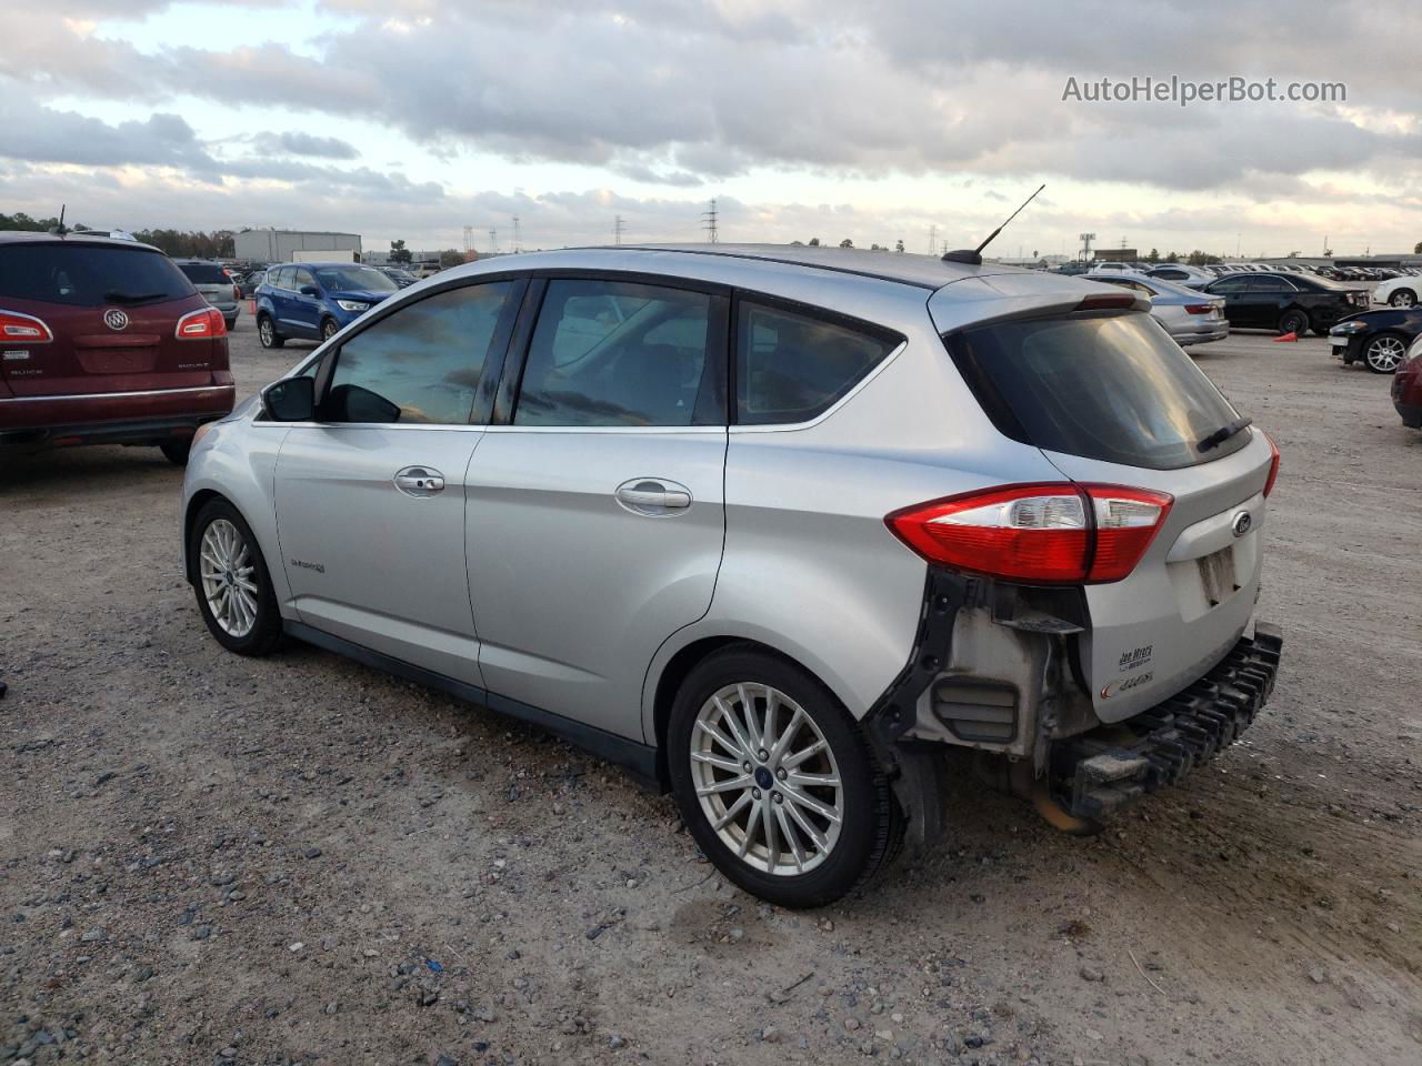
{"type": "Polygon", "coordinates": [[[724,297],[603,280],[547,286],[515,425],[724,425],[724,297]]]}

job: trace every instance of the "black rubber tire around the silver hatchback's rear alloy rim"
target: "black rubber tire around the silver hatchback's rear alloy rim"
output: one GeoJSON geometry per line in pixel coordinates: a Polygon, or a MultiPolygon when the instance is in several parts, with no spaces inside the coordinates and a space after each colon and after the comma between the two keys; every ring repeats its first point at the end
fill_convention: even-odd
{"type": "MultiPolygon", "coordinates": [[[[855,891],[889,866],[903,841],[903,814],[859,725],[815,677],[749,644],[734,644],[714,652],[681,684],[667,729],[667,765],[681,816],[705,856],[732,883],[782,907],[822,907],[855,891]],[[697,796],[691,759],[693,742],[698,736],[697,716],[712,695],[738,684],[769,685],[792,699],[813,722],[833,755],[843,809],[839,837],[818,866],[805,873],[772,874],[738,857],[717,833],[697,796]]],[[[757,772],[766,766],[771,763],[758,765],[757,772]]],[[[792,779],[795,773],[791,770],[792,779]]],[[[785,787],[771,776],[765,782],[772,786],[762,783],[766,792],[761,795],[766,802],[776,789],[785,787]]],[[[749,802],[748,809],[754,810],[757,803],[749,802]]],[[[789,804],[785,806],[788,809],[789,804]]],[[[769,819],[769,814],[765,817],[769,819]]],[[[809,843],[805,834],[799,834],[799,840],[809,843]]]]}

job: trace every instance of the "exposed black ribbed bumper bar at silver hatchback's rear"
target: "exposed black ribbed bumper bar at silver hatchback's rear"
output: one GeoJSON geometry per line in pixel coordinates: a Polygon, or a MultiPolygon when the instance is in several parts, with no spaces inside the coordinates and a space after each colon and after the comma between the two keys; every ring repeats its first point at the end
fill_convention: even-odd
{"type": "Polygon", "coordinates": [[[1239,739],[1274,689],[1283,632],[1257,623],[1229,655],[1179,695],[1052,746],[1048,786],[1079,819],[1098,820],[1175,785],[1239,739]]]}

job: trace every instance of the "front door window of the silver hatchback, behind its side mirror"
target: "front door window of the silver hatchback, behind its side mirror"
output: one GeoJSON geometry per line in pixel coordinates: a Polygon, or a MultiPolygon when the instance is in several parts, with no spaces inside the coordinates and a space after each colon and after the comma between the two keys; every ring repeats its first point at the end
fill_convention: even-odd
{"type": "Polygon", "coordinates": [[[336,355],[321,421],[468,424],[515,287],[492,281],[451,289],[357,333],[336,355]]]}

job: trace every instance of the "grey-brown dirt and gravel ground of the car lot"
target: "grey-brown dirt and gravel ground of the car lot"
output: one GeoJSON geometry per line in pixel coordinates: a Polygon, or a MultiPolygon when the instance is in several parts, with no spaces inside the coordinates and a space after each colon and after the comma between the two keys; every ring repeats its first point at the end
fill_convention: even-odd
{"type": "MultiPolygon", "coordinates": [[[[243,317],[242,392],[293,348],[243,317]]],[[[1092,840],[964,776],[813,914],[532,729],[222,652],[155,451],[3,461],[0,1063],[1422,1060],[1422,434],[1321,340],[1199,360],[1284,453],[1247,742],[1092,840]]]]}

